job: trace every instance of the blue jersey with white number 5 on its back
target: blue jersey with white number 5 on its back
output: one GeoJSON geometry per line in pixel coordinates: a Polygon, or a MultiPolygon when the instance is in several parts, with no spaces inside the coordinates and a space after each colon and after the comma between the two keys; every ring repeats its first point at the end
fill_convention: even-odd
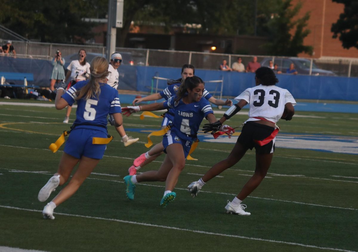
{"type": "MultiPolygon", "coordinates": [[[[87,83],[88,81],[77,82],[62,95],[62,98],[72,106],[77,97],[76,91],[87,83]]],[[[107,115],[122,112],[117,90],[105,83],[100,83],[100,89],[101,93],[98,99],[92,97],[88,100],[82,98],[77,101],[76,120],[74,121],[76,124],[91,123],[100,125],[100,127],[80,125],[76,128],[90,128],[107,132],[107,115]]]]}

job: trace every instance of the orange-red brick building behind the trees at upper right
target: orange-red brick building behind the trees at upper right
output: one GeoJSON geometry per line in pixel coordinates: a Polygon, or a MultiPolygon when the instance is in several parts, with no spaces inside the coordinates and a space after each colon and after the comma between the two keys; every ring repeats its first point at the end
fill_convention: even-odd
{"type": "MultiPolygon", "coordinates": [[[[296,5],[299,1],[302,3],[299,17],[310,11],[307,28],[311,30],[311,33],[304,39],[304,44],[314,47],[313,58],[358,58],[357,48],[344,49],[338,38],[332,38],[331,26],[337,22],[339,14],[343,13],[343,4],[335,3],[332,0],[293,0],[292,4],[296,5]]],[[[301,53],[299,57],[310,56],[301,53]]]]}

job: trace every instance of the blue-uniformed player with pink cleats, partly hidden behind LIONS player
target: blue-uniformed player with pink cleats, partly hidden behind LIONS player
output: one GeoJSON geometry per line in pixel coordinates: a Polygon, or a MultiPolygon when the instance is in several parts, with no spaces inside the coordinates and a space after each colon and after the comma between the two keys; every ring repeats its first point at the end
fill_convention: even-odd
{"type": "MultiPolygon", "coordinates": [[[[156,101],[164,98],[168,100],[171,96],[175,96],[176,92],[180,84],[187,78],[193,77],[195,73],[195,68],[191,64],[184,64],[182,67],[181,76],[182,78],[177,80],[170,80],[168,81],[168,87],[166,87],[163,91],[159,93],[155,93],[143,98],[136,98],[132,103],[144,102],[144,101],[156,101]]],[[[227,99],[226,101],[216,99],[213,97],[206,89],[203,91],[202,98],[205,98],[211,103],[214,103],[218,106],[232,106],[232,101],[227,99]]],[[[174,112],[173,109],[169,109],[168,112],[165,113],[163,121],[161,123],[162,129],[168,126],[171,122],[173,122],[174,112]]],[[[133,162],[133,165],[129,168],[128,172],[129,175],[135,175],[137,170],[144,167],[145,165],[149,164],[150,162],[154,161],[158,156],[163,153],[163,144],[160,142],[159,144],[154,145],[149,151],[141,154],[138,158],[136,158],[133,162]]]]}

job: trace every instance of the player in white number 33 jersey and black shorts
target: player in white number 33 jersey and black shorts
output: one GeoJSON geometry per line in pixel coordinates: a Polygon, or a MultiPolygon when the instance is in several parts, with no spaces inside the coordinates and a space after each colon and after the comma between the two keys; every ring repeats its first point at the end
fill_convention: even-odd
{"type": "Polygon", "coordinates": [[[278,79],[272,69],[260,67],[256,70],[256,87],[247,88],[235,100],[237,104],[229,108],[224,116],[215,123],[204,125],[204,132],[219,129],[224,121],[232,117],[246,104],[250,105],[248,120],[242,128],[241,134],[227,159],[215,164],[205,175],[188,186],[189,192],[196,197],[202,186],[222,173],[224,170],[235,165],[248,149],[256,149],[256,168],[254,175],[243,186],[241,192],[225,207],[226,213],[250,215],[245,212],[246,205],[242,201],[260,185],[270,168],[272,156],[275,150],[276,134],[278,127],[276,122],[282,118],[291,120],[295,113],[295,99],[287,89],[276,87],[278,79]]]}

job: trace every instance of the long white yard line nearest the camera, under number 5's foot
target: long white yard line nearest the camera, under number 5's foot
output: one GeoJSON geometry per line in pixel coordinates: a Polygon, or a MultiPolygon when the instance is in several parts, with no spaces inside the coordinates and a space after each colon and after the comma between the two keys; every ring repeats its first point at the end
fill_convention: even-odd
{"type": "MultiPolygon", "coordinates": [[[[37,212],[37,213],[41,213],[41,212],[42,212],[41,210],[11,207],[11,206],[7,206],[7,205],[0,205],[0,207],[2,207],[2,208],[8,208],[8,209],[16,209],[16,210],[29,211],[29,212],[37,212]]],[[[163,226],[163,225],[157,225],[157,224],[151,224],[151,223],[135,222],[135,221],[130,221],[130,220],[110,219],[110,218],[102,218],[102,217],[94,217],[94,216],[86,216],[86,215],[78,215],[78,214],[57,213],[57,212],[55,212],[55,214],[57,214],[57,215],[71,216],[71,217],[87,218],[87,219],[107,220],[107,221],[112,221],[112,222],[120,222],[120,223],[126,223],[126,224],[135,224],[135,225],[146,226],[146,227],[174,229],[174,230],[178,230],[178,231],[191,232],[191,233],[199,233],[199,234],[207,234],[207,235],[211,235],[211,236],[223,236],[223,237],[240,238],[240,239],[247,239],[247,240],[253,240],[253,241],[262,241],[262,242],[271,242],[271,243],[279,243],[279,244],[288,244],[288,245],[294,245],[294,246],[300,246],[300,247],[306,247],[306,248],[328,249],[328,250],[333,250],[333,251],[344,251],[344,252],[357,252],[357,251],[351,251],[351,250],[340,249],[340,248],[319,247],[319,246],[308,245],[308,244],[302,244],[302,243],[296,243],[296,242],[285,242],[285,241],[276,241],[276,240],[262,239],[262,238],[256,238],[256,237],[237,236],[237,235],[233,235],[233,234],[214,233],[214,232],[207,232],[207,231],[201,231],[201,230],[193,230],[193,229],[186,229],[186,228],[177,228],[177,227],[163,226]]],[[[51,220],[48,220],[48,221],[51,221],[51,220]]]]}

